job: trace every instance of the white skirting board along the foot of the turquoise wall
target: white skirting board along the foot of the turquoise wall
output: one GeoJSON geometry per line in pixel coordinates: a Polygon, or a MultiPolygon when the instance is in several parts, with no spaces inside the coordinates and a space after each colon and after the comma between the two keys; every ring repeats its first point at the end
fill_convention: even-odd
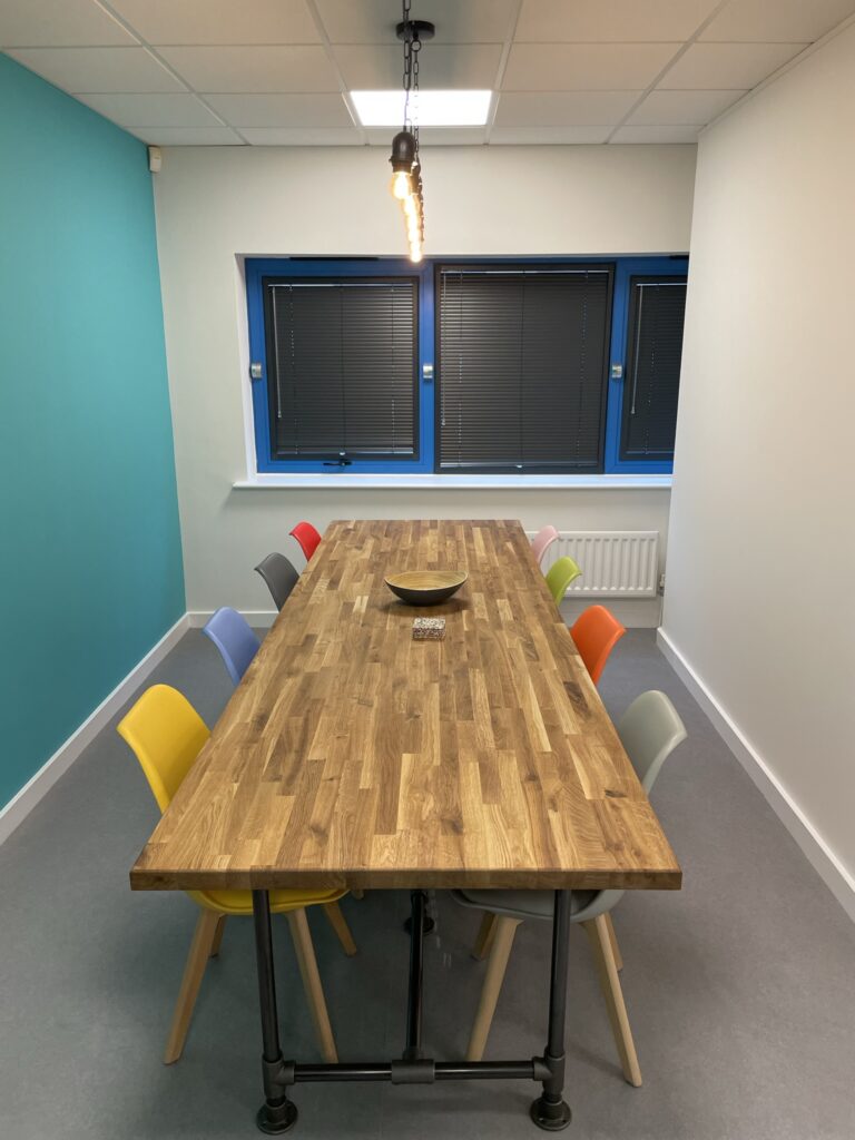
{"type": "Polygon", "coordinates": [[[8,839],[13,831],[23,823],[39,800],[68,771],[83,749],[91,744],[101,728],[115,716],[135,689],[146,679],[172,646],[181,640],[188,628],[188,616],[185,613],[171,629],[166,630],[142,660],[131,669],[128,676],[123,681],[120,681],[113,692],[104,698],[98,708],[68,736],[65,743],[59,746],[50,759],[42,764],[35,775],[27,780],[21,791],[9,800],[6,807],[0,811],[0,844],[8,839]]]}

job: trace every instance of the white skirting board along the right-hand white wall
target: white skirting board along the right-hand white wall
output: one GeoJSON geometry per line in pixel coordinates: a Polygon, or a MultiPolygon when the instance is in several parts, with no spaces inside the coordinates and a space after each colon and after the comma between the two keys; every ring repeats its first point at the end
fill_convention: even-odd
{"type": "Polygon", "coordinates": [[[657,644],[814,870],[855,922],[855,879],[661,627],[657,630],[657,644]]]}

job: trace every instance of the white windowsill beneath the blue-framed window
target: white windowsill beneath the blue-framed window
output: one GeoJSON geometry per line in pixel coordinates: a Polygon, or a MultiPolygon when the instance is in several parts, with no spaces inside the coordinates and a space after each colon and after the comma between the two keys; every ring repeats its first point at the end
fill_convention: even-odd
{"type": "Polygon", "coordinates": [[[380,475],[380,474],[255,474],[238,479],[236,490],[296,488],[319,490],[668,490],[671,475],[380,475]]]}

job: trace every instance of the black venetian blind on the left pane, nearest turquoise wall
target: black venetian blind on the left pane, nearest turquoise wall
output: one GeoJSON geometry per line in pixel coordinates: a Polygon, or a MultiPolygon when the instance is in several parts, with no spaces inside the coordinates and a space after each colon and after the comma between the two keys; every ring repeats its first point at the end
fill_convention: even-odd
{"type": "Polygon", "coordinates": [[[416,278],[266,278],[274,458],[417,453],[416,278]]]}

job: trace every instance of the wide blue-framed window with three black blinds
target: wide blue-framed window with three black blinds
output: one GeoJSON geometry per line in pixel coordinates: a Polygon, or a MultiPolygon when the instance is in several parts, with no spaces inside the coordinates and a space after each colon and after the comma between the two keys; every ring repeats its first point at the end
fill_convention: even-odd
{"type": "Polygon", "coordinates": [[[247,260],[258,470],[668,472],[685,269],[247,260]]]}

